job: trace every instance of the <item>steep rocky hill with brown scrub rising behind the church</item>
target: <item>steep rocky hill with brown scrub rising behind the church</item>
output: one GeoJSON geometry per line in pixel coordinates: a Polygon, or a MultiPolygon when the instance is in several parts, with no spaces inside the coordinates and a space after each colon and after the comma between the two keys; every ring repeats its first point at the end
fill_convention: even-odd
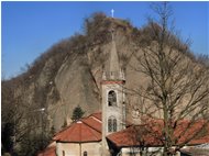
{"type": "Polygon", "coordinates": [[[46,108],[47,125],[56,131],[70,122],[73,109],[77,105],[86,112],[85,115],[100,111],[100,81],[108,62],[112,27],[120,64],[125,71],[125,87],[146,83],[146,78],[132,67],[138,66],[134,53],[139,53],[140,47],[151,46],[154,40],[148,24],[139,30],[128,21],[95,13],[84,25],[84,33],[53,45],[25,73],[2,81],[3,111],[16,108],[24,113],[35,112],[34,122],[38,122],[40,112],[34,110],[46,108]]]}

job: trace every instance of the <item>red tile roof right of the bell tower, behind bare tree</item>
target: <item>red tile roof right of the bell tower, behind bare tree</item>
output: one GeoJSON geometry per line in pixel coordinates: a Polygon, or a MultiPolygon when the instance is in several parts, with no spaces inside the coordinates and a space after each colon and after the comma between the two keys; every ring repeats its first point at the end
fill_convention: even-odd
{"type": "MultiPolygon", "coordinates": [[[[177,138],[176,144],[182,144],[187,141],[189,145],[209,143],[209,132],[206,132],[202,136],[189,140],[200,131],[204,124],[204,121],[198,121],[188,127],[188,121],[180,121],[174,130],[174,138],[177,138]]],[[[118,147],[134,145],[161,146],[164,142],[162,140],[163,121],[148,121],[146,125],[130,126],[123,131],[110,134],[107,138],[118,147]]]]}

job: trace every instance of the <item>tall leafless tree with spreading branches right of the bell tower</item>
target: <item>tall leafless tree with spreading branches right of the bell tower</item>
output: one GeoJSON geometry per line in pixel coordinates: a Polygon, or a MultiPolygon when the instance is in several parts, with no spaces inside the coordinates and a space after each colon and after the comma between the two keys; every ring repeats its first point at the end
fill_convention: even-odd
{"type": "Polygon", "coordinates": [[[188,42],[177,38],[174,26],[169,29],[168,3],[157,3],[153,10],[160,21],[150,20],[150,45],[140,45],[141,53],[134,54],[139,66],[133,66],[147,83],[132,91],[143,101],[139,104],[142,123],[150,121],[146,130],[161,141],[163,155],[170,156],[208,133],[209,70],[194,63],[188,42]]]}

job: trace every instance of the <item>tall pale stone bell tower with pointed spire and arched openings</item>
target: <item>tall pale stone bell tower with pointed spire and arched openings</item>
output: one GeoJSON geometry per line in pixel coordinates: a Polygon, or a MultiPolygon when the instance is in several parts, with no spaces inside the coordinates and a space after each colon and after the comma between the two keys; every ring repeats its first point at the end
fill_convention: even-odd
{"type": "Polygon", "coordinates": [[[108,145],[106,136],[125,129],[125,103],[123,86],[124,73],[120,68],[117,52],[114,30],[111,31],[111,43],[108,64],[102,75],[102,154],[107,155],[108,145]]]}

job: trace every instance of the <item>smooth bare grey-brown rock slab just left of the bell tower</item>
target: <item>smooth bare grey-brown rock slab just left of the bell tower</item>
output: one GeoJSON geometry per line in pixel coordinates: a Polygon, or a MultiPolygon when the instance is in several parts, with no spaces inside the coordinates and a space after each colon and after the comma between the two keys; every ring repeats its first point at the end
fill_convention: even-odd
{"type": "Polygon", "coordinates": [[[78,56],[73,63],[67,59],[55,77],[55,86],[61,94],[61,100],[52,107],[57,112],[52,113],[54,115],[53,124],[56,127],[61,126],[62,120],[70,120],[73,109],[77,105],[80,105],[86,114],[99,111],[101,108],[100,101],[94,92],[96,83],[89,68],[81,65],[84,59],[86,58],[82,56],[78,56]]]}

